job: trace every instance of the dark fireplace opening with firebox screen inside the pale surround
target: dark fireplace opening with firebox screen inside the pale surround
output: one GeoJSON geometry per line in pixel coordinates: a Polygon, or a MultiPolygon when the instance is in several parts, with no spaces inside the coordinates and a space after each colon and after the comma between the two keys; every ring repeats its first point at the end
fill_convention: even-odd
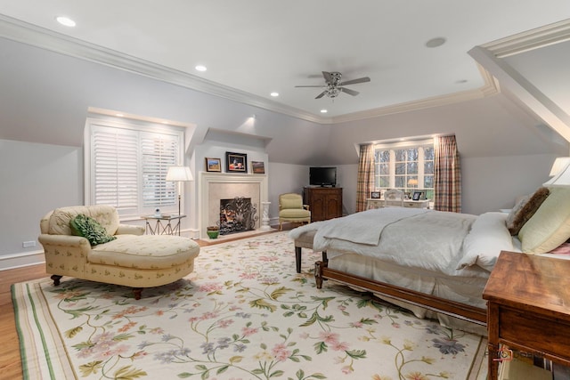
{"type": "Polygon", "coordinates": [[[251,198],[220,199],[220,235],[256,229],[257,206],[251,198]]]}

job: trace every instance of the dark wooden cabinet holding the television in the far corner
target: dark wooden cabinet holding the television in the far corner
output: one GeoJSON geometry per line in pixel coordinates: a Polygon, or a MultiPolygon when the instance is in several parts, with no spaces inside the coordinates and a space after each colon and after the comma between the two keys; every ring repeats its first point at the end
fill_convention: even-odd
{"type": "Polygon", "coordinates": [[[309,205],[311,222],[342,216],[342,188],[310,188],[303,191],[303,203],[309,205]]]}

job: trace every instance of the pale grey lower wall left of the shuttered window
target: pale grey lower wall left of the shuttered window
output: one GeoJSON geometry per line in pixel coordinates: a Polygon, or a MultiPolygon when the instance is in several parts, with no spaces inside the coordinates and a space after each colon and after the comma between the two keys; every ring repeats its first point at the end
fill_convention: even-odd
{"type": "Polygon", "coordinates": [[[26,256],[42,249],[37,243],[39,221],[48,211],[83,204],[83,150],[0,140],[0,162],[2,269],[12,266],[14,254],[26,256]],[[24,241],[36,247],[22,247],[24,241]]]}

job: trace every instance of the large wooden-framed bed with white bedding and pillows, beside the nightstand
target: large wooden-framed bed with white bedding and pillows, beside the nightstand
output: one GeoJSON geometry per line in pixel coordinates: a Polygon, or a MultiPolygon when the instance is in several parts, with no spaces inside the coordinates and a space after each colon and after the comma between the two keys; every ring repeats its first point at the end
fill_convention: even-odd
{"type": "Polygon", "coordinates": [[[327,253],[315,263],[317,287],[332,279],[420,318],[485,333],[481,295],[496,258],[503,250],[545,254],[570,238],[570,190],[541,188],[509,214],[386,207],[310,223],[289,236],[309,232],[314,251],[327,253]]]}

